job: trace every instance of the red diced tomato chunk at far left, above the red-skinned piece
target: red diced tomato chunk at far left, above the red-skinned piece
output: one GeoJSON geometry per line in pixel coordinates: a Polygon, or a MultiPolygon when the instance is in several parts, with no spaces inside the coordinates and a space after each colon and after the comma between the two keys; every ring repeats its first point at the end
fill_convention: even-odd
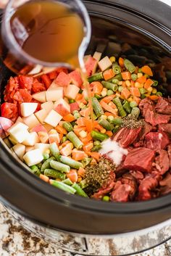
{"type": "Polygon", "coordinates": [[[8,102],[1,104],[1,116],[14,122],[18,117],[17,105],[8,102]]]}

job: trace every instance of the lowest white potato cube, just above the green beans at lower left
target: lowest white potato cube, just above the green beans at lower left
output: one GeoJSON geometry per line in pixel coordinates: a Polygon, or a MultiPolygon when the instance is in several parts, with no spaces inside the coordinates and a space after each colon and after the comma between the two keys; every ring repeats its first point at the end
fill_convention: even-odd
{"type": "Polygon", "coordinates": [[[28,166],[37,165],[43,160],[43,154],[40,149],[30,150],[24,155],[23,160],[28,166]]]}

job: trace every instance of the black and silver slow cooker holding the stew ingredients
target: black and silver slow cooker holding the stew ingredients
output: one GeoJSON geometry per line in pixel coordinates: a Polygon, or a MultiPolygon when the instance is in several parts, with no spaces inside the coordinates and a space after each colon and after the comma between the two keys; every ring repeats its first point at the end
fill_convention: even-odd
{"type": "MultiPolygon", "coordinates": [[[[85,0],[91,44],[108,55],[160,69],[159,86],[171,94],[171,7],[154,0],[85,0]],[[122,45],[122,47],[121,47],[122,45]],[[161,71],[162,72],[162,71],[161,71]]],[[[12,75],[0,63],[1,101],[12,75]]],[[[0,200],[25,228],[56,247],[80,255],[131,255],[171,237],[171,194],[146,202],[107,203],[75,197],[44,183],[1,141],[0,200]]]]}

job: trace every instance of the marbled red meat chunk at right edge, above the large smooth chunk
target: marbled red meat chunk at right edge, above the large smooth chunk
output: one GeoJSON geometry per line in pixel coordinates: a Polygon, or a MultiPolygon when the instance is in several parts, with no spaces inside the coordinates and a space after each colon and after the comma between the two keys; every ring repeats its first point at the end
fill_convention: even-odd
{"type": "Polygon", "coordinates": [[[169,143],[170,139],[167,136],[167,133],[163,133],[162,131],[148,133],[144,140],[144,146],[154,150],[165,149],[169,143]]]}

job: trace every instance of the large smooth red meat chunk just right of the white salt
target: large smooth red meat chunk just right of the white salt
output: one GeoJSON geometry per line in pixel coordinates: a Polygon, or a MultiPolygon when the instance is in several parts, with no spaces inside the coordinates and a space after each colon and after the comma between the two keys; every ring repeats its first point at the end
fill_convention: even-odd
{"type": "Polygon", "coordinates": [[[141,147],[131,150],[124,161],[124,167],[128,170],[140,170],[151,172],[155,152],[151,149],[141,147]]]}

